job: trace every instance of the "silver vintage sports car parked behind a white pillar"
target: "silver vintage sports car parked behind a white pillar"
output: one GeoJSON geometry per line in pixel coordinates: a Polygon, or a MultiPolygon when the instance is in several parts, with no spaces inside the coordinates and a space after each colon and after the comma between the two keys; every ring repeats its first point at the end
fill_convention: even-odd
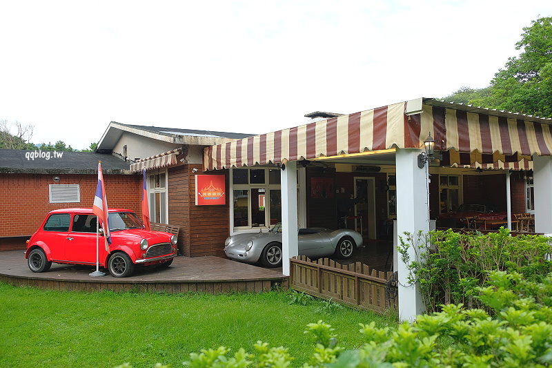
{"type": "MultiPolygon", "coordinates": [[[[299,229],[299,255],[309,258],[333,254],[351,258],[358,246],[362,246],[362,235],[353,230],[299,229]]],[[[282,265],[282,224],[275,224],[268,233],[232,235],[224,242],[224,252],[233,260],[278,267],[282,265]]]]}

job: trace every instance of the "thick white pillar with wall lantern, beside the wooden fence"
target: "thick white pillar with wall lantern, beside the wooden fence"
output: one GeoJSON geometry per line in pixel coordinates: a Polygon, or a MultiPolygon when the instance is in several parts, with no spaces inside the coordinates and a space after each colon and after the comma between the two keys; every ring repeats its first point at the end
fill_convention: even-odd
{"type": "MultiPolygon", "coordinates": [[[[404,232],[417,235],[418,231],[429,231],[428,178],[427,168],[417,166],[420,150],[397,149],[395,153],[397,167],[397,235],[404,239],[404,232]]],[[[417,240],[417,237],[415,237],[417,240]]],[[[400,244],[400,242],[399,242],[400,244]]],[[[417,244],[415,244],[417,245],[417,244]]],[[[408,249],[411,262],[418,260],[419,249],[408,249]]],[[[424,303],[419,284],[409,284],[408,268],[398,259],[399,272],[399,318],[413,321],[417,314],[423,313],[424,303]]]]}

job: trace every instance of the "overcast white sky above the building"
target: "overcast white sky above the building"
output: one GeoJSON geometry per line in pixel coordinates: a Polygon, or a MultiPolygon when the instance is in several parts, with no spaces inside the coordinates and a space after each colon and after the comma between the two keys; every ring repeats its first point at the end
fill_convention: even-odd
{"type": "Polygon", "coordinates": [[[0,0],[0,120],[267,133],[487,86],[552,1],[0,0]]]}

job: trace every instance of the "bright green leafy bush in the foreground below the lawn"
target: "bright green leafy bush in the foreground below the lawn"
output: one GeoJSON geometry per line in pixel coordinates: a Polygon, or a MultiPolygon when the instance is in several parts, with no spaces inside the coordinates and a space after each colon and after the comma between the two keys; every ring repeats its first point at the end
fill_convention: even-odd
{"type": "MultiPolygon", "coordinates": [[[[549,367],[552,362],[552,274],[542,282],[520,273],[489,273],[476,297],[493,311],[448,304],[440,312],[417,316],[413,324],[377,328],[360,324],[366,344],[345,350],[330,325],[307,326],[315,348],[307,367],[549,367]]],[[[293,366],[284,347],[257,342],[253,354],[225,347],[190,354],[184,365],[201,367],[293,366]]],[[[129,367],[122,365],[122,367],[129,367]]],[[[157,365],[156,367],[164,367],[157,365]]]]}

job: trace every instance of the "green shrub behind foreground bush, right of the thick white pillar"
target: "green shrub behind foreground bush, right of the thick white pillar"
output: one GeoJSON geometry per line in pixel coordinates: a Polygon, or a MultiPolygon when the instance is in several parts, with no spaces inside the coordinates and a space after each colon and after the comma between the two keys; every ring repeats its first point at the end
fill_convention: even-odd
{"type": "Polygon", "coordinates": [[[473,296],[477,287],[488,280],[489,271],[516,272],[535,282],[552,271],[552,262],[546,260],[552,253],[551,240],[542,235],[513,237],[504,228],[488,234],[455,233],[449,229],[405,233],[400,242],[399,253],[411,273],[409,282],[420,283],[428,312],[449,303],[482,307],[473,296]],[[419,254],[417,262],[408,257],[411,246],[419,254]]]}

